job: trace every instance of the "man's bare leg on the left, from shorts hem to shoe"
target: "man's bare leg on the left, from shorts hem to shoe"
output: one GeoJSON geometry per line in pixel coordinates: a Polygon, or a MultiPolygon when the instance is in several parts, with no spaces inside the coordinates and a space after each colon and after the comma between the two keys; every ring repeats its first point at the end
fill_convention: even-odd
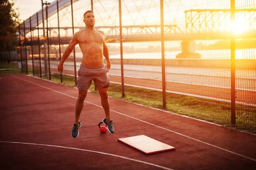
{"type": "Polygon", "coordinates": [[[80,122],[79,117],[84,107],[84,99],[86,98],[87,90],[86,91],[78,90],[78,93],[79,93],[78,98],[76,100],[75,124],[79,126],[79,122],[80,122]]]}

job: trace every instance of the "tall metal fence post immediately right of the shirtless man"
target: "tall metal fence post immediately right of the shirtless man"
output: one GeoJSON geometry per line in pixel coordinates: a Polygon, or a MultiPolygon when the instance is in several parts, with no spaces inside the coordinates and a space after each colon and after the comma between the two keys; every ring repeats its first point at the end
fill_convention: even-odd
{"type": "Polygon", "coordinates": [[[121,56],[121,83],[122,83],[122,97],[125,97],[125,84],[124,84],[124,63],[123,63],[123,49],[122,49],[122,8],[121,0],[119,4],[119,30],[120,30],[120,56],[121,56]]]}

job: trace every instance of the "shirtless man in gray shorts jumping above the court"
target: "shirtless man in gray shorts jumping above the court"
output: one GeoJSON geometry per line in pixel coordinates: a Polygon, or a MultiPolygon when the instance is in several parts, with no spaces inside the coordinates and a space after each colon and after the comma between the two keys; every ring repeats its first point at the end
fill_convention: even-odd
{"type": "Polygon", "coordinates": [[[109,77],[108,69],[111,67],[111,62],[108,55],[108,47],[105,39],[106,35],[103,31],[94,28],[95,18],[93,11],[84,13],[85,28],[76,32],[70,41],[67,49],[58,64],[58,71],[63,71],[63,64],[76,44],[79,44],[83,53],[82,63],[78,71],[77,88],[78,99],[76,101],[75,123],[71,132],[72,137],[76,138],[79,134],[81,122],[79,117],[84,106],[84,99],[87,91],[90,88],[92,81],[95,83],[101,97],[102,107],[105,111],[105,118],[102,120],[107,125],[108,131],[114,133],[113,121],[110,116],[110,108],[108,101],[109,77]],[[103,64],[103,56],[107,60],[107,65],[103,64]]]}

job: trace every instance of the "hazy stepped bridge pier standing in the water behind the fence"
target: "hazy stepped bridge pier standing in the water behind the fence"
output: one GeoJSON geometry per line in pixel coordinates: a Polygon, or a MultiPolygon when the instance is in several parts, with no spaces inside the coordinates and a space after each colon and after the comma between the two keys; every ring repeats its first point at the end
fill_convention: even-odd
{"type": "Polygon", "coordinates": [[[201,58],[202,55],[195,52],[195,41],[183,40],[181,43],[181,53],[176,58],[201,58]]]}

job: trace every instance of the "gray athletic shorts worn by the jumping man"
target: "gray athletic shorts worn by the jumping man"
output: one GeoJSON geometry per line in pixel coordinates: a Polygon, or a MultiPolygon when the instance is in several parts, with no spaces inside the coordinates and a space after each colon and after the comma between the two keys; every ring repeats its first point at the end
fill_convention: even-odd
{"type": "Polygon", "coordinates": [[[82,91],[88,90],[92,81],[96,88],[108,88],[110,79],[107,73],[108,68],[105,65],[89,68],[81,64],[78,71],[77,88],[82,91]]]}

